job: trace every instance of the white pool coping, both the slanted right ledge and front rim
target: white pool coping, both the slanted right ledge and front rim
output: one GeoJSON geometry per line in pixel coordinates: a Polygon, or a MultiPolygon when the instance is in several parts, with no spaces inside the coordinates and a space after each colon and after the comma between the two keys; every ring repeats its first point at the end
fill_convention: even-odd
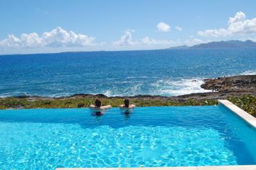
{"type": "MultiPolygon", "coordinates": [[[[228,100],[218,100],[218,104],[224,105],[230,111],[237,114],[244,121],[256,128],[256,118],[243,111],[228,100]]],[[[248,166],[187,166],[187,167],[111,167],[111,168],[57,168],[56,170],[256,170],[256,165],[248,166]]]]}

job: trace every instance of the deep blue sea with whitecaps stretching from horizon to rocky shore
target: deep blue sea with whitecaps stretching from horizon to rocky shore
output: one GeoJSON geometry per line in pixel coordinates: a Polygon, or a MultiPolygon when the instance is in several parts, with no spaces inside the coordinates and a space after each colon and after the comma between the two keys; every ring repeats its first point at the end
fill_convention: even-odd
{"type": "Polygon", "coordinates": [[[253,73],[256,49],[8,55],[0,56],[0,97],[175,96],[204,92],[200,84],[205,78],[253,73]]]}

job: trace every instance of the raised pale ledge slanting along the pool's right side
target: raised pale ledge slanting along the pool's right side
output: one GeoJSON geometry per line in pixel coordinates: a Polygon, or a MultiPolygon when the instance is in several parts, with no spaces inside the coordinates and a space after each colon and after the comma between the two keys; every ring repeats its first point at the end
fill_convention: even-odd
{"type": "Polygon", "coordinates": [[[252,125],[252,127],[256,128],[256,118],[254,118],[251,114],[244,111],[240,107],[237,107],[237,105],[232,104],[232,102],[228,100],[218,100],[218,104],[224,105],[227,107],[230,111],[234,112],[237,116],[242,118],[244,121],[252,125]]]}

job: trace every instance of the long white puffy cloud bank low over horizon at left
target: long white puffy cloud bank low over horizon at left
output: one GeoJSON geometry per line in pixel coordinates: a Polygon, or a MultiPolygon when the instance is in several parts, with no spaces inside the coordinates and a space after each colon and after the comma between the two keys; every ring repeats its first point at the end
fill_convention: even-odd
{"type": "Polygon", "coordinates": [[[36,47],[85,47],[93,45],[95,38],[83,34],[76,34],[73,31],[65,31],[61,27],[56,27],[50,32],[45,32],[42,36],[36,33],[22,34],[20,38],[8,35],[0,41],[3,48],[36,48],[36,47]]]}

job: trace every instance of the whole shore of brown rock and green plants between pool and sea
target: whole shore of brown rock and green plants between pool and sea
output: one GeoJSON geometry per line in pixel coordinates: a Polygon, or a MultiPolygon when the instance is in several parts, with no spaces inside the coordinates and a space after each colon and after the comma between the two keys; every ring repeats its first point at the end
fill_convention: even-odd
{"type": "Polygon", "coordinates": [[[228,99],[238,107],[256,117],[256,75],[239,75],[205,79],[202,88],[212,92],[192,93],[177,97],[137,95],[134,97],[107,97],[105,95],[77,94],[70,97],[4,97],[0,98],[0,109],[77,108],[89,107],[95,98],[101,98],[104,105],[118,107],[123,98],[130,98],[132,104],[145,106],[216,105],[218,99],[228,99]]]}

